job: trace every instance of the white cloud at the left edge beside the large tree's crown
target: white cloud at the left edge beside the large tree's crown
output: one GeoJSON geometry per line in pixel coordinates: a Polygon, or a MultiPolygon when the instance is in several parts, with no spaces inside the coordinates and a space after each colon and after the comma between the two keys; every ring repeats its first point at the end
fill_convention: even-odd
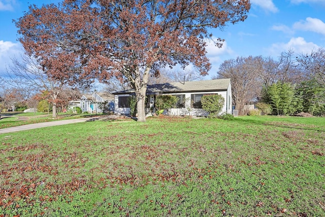
{"type": "Polygon", "coordinates": [[[0,41],[0,75],[6,73],[6,67],[12,63],[11,58],[19,57],[21,52],[22,47],[20,43],[0,41]]]}

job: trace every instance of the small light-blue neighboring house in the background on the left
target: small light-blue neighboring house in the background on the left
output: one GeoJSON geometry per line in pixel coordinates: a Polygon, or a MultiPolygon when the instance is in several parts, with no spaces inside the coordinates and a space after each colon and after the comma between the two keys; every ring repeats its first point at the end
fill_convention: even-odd
{"type": "Polygon", "coordinates": [[[94,92],[92,95],[83,95],[80,99],[82,112],[107,113],[114,111],[114,95],[94,92]]]}

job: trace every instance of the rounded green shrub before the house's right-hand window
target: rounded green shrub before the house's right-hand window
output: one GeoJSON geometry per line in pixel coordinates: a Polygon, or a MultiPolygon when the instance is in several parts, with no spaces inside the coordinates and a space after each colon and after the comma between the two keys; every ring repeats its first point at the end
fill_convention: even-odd
{"type": "Polygon", "coordinates": [[[224,98],[218,94],[204,95],[201,98],[201,104],[202,108],[210,113],[209,116],[213,117],[221,112],[224,105],[224,98]]]}

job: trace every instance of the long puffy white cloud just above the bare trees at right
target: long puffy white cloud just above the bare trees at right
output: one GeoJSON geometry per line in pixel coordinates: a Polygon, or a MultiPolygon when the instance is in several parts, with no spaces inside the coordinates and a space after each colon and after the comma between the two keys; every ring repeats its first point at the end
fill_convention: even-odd
{"type": "Polygon", "coordinates": [[[296,53],[310,53],[312,50],[318,49],[319,46],[313,42],[306,42],[302,37],[291,38],[287,43],[275,43],[269,48],[271,56],[277,56],[281,52],[286,52],[289,49],[294,50],[296,53]]]}

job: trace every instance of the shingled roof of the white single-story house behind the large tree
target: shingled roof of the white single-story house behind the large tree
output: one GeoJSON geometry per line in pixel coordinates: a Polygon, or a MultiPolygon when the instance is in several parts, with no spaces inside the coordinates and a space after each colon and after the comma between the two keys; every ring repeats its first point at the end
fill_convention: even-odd
{"type": "MultiPolygon", "coordinates": [[[[148,85],[147,95],[156,93],[176,93],[176,92],[211,92],[228,89],[230,85],[230,78],[203,80],[203,81],[185,81],[185,82],[172,82],[164,84],[148,85]]],[[[134,89],[114,92],[115,95],[132,94],[134,89]]]]}

